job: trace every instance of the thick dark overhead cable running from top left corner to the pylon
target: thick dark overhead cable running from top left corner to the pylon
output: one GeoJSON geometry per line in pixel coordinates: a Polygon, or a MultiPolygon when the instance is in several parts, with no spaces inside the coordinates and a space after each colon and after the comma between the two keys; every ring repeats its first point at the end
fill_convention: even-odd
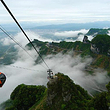
{"type": "Polygon", "coordinates": [[[23,30],[23,28],[20,26],[19,22],[17,21],[17,19],[14,17],[14,15],[12,14],[12,12],[10,11],[10,9],[8,8],[8,6],[5,4],[5,2],[3,0],[1,0],[2,4],[4,5],[4,7],[6,8],[6,10],[9,12],[9,14],[11,15],[11,17],[13,18],[13,20],[16,22],[16,24],[18,25],[18,27],[21,29],[21,31],[23,32],[23,34],[25,35],[25,37],[28,39],[28,41],[30,42],[30,44],[32,45],[32,47],[34,48],[34,50],[38,53],[38,55],[40,56],[40,58],[42,59],[42,61],[45,63],[45,65],[47,66],[47,68],[49,69],[49,66],[47,65],[47,63],[44,61],[44,59],[42,58],[42,56],[40,55],[40,53],[38,52],[38,50],[35,48],[35,46],[33,45],[33,43],[31,42],[31,40],[29,39],[29,37],[27,36],[27,34],[25,33],[25,31],[23,30]]]}

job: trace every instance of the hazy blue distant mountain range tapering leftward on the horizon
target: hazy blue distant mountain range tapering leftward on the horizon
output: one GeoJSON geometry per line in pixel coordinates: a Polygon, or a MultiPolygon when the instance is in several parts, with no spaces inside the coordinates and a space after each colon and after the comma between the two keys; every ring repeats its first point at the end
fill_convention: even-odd
{"type": "Polygon", "coordinates": [[[36,29],[54,29],[58,31],[69,31],[69,30],[81,30],[81,29],[90,29],[90,28],[108,28],[110,27],[109,21],[98,21],[98,22],[90,22],[90,23],[67,23],[67,24],[59,24],[59,25],[45,25],[45,26],[36,26],[31,30],[36,29]]]}

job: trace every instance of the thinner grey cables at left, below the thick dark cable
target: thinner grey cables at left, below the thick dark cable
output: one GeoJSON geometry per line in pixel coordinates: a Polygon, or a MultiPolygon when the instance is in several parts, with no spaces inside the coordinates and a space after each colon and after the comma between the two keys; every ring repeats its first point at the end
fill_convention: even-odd
{"type": "MultiPolygon", "coordinates": [[[[0,25],[1,26],[1,25],[0,25]]],[[[29,52],[25,49],[25,48],[23,48],[22,47],[22,45],[20,45],[15,39],[13,39],[10,35],[9,35],[9,33],[1,26],[0,27],[0,30],[4,33],[4,34],[6,34],[11,40],[13,40],[20,48],[22,48],[32,59],[34,59],[30,54],[29,54],[29,52]]],[[[5,52],[5,54],[6,54],[6,52],[5,52]]],[[[44,67],[43,65],[41,65],[42,67],[44,67]]],[[[45,67],[44,67],[45,68],[45,67]]],[[[45,68],[46,69],[46,68],[45,68]]]]}

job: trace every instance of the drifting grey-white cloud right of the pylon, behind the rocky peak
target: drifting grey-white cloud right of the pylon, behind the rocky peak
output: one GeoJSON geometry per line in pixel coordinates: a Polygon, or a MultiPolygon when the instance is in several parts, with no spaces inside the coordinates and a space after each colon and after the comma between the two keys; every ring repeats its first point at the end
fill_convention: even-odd
{"type": "Polygon", "coordinates": [[[107,76],[107,72],[103,69],[94,70],[94,74],[90,75],[85,71],[85,67],[89,66],[92,62],[92,58],[87,57],[85,59],[80,56],[72,57],[73,52],[68,55],[57,54],[51,59],[46,60],[54,73],[61,72],[68,75],[76,84],[79,84],[88,92],[105,91],[105,84],[107,84],[110,78],[107,76]],[[54,62],[54,63],[53,63],[54,62]]]}

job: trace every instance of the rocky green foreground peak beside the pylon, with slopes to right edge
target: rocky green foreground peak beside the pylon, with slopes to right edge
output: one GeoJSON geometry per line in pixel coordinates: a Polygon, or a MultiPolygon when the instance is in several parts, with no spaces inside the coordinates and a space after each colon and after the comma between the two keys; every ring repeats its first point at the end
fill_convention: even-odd
{"type": "Polygon", "coordinates": [[[63,74],[57,74],[57,76],[57,82],[53,81],[47,84],[47,96],[49,97],[49,94],[52,97],[54,96],[53,98],[49,97],[49,99],[51,98],[49,101],[52,103],[49,105],[45,100],[37,109],[35,107],[30,110],[109,110],[110,83],[107,84],[108,91],[90,97],[83,88],[74,84],[68,76],[63,74]]]}

